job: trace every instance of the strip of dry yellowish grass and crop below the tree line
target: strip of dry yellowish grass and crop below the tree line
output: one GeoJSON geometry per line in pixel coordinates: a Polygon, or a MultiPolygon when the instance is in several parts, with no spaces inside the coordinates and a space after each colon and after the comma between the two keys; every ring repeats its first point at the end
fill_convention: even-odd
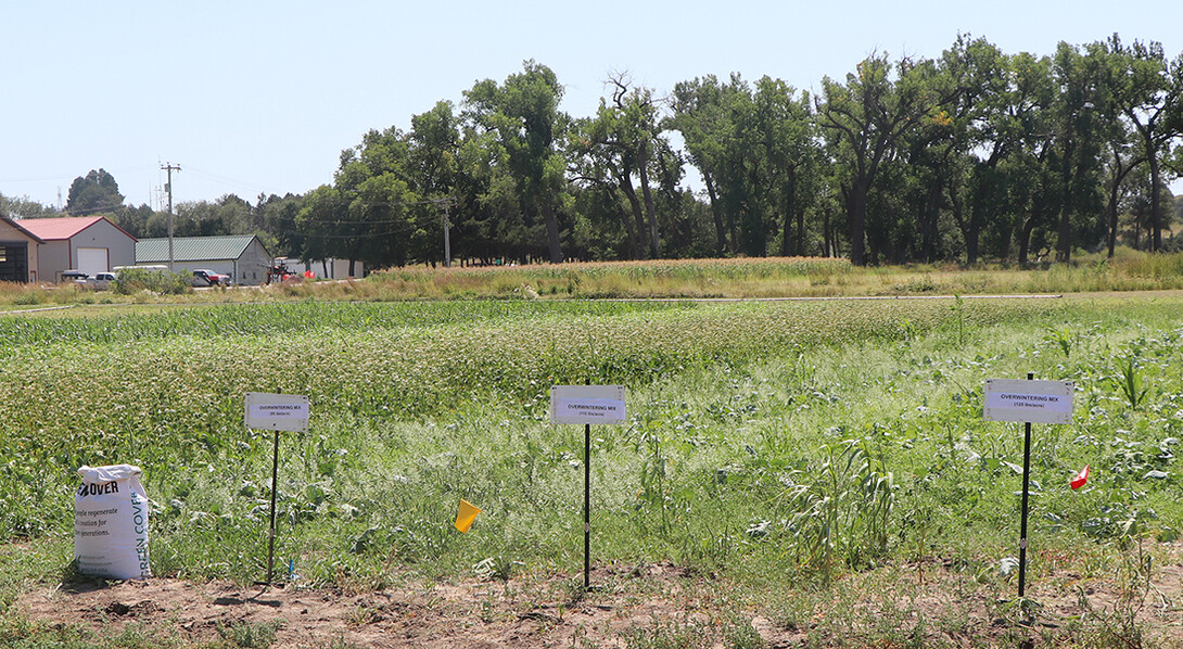
{"type": "Polygon", "coordinates": [[[1120,249],[1113,260],[1030,268],[888,266],[845,259],[768,258],[621,261],[497,267],[408,267],[364,280],[289,281],[265,287],[90,291],[0,285],[0,310],[86,304],[193,304],[318,300],[464,300],[603,298],[793,298],[970,296],[1183,288],[1183,253],[1120,249]],[[122,293],[122,294],[121,294],[122,293]]]}

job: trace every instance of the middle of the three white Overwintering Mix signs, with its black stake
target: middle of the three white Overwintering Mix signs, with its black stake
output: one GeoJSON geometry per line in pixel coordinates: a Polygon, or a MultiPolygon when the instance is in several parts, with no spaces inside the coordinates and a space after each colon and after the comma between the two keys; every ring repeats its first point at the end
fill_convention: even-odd
{"type": "Polygon", "coordinates": [[[583,590],[592,588],[592,424],[625,422],[623,385],[554,385],[550,423],[583,424],[583,590]]]}

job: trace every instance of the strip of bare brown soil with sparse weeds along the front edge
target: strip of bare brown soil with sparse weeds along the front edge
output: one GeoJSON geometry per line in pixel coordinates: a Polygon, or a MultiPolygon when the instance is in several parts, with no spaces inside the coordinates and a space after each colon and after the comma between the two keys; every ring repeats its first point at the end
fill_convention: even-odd
{"type": "Polygon", "coordinates": [[[448,584],[408,580],[356,593],[153,578],[41,586],[24,593],[17,606],[32,621],[82,625],[103,636],[131,629],[202,643],[230,637],[230,630],[244,624],[273,623],[279,625],[272,644],[277,648],[481,649],[622,648],[631,641],[638,644],[638,634],[652,638],[662,632],[689,634],[696,647],[903,647],[888,638],[906,638],[918,619],[926,621],[920,632],[940,636],[940,645],[1013,645],[1020,638],[1020,645],[1052,647],[1106,628],[1121,632],[1120,621],[1129,612],[1145,632],[1145,644],[1131,647],[1183,647],[1183,545],[1157,549],[1155,560],[1149,588],[1143,582],[1137,590],[1140,605],[1126,606],[1120,595],[1129,590],[1116,583],[1117,572],[1085,579],[1079,562],[1066,558],[1065,567],[1056,567],[1052,558],[1039,584],[1029,586],[1028,595],[1041,605],[1034,621],[1020,619],[1017,609],[1000,603],[1000,595],[1014,590],[1011,582],[983,586],[969,579],[963,566],[936,559],[849,575],[833,588],[802,591],[808,603],[800,615],[784,612],[784,602],[793,599],[784,592],[761,602],[758,593],[742,596],[716,576],[670,564],[600,567],[593,572],[593,591],[582,596],[582,579],[568,575],[448,584]],[[1081,596],[1092,612],[1082,609],[1081,596]],[[841,622],[827,625],[827,618],[839,617],[841,622]],[[749,635],[746,644],[739,643],[728,635],[737,628],[759,638],[749,635]]]}

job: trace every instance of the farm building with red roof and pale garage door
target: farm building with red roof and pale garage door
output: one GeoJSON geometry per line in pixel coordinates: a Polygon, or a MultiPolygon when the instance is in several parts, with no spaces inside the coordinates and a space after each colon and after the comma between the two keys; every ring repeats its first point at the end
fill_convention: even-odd
{"type": "Polygon", "coordinates": [[[136,260],[136,238],[105,216],[22,219],[20,227],[41,240],[37,265],[30,265],[41,281],[59,281],[70,270],[93,275],[136,260]]]}

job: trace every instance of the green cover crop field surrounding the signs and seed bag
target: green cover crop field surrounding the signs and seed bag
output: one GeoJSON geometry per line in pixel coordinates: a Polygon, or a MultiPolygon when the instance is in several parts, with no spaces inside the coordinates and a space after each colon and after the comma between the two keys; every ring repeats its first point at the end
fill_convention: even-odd
{"type": "MultiPolygon", "coordinates": [[[[280,436],[287,592],[499,584],[470,622],[531,623],[517,644],[539,647],[1181,644],[1178,293],[92,309],[0,316],[5,642],[258,645],[261,622],[115,634],[28,598],[79,579],[82,465],[143,468],[159,577],[260,579],[271,435],[243,400],[263,391],[311,400],[280,436]],[[1015,602],[1022,431],[983,421],[982,385],[1027,372],[1077,391],[1073,423],[1035,426],[1015,602]],[[583,430],[549,424],[548,390],[586,382],[626,385],[628,421],[593,428],[583,595],[583,430]],[[483,510],[467,534],[461,498],[483,510]],[[680,603],[571,627],[626,595],[680,603]]],[[[263,645],[409,623],[375,606],[321,637],[289,616],[263,645]]]]}

